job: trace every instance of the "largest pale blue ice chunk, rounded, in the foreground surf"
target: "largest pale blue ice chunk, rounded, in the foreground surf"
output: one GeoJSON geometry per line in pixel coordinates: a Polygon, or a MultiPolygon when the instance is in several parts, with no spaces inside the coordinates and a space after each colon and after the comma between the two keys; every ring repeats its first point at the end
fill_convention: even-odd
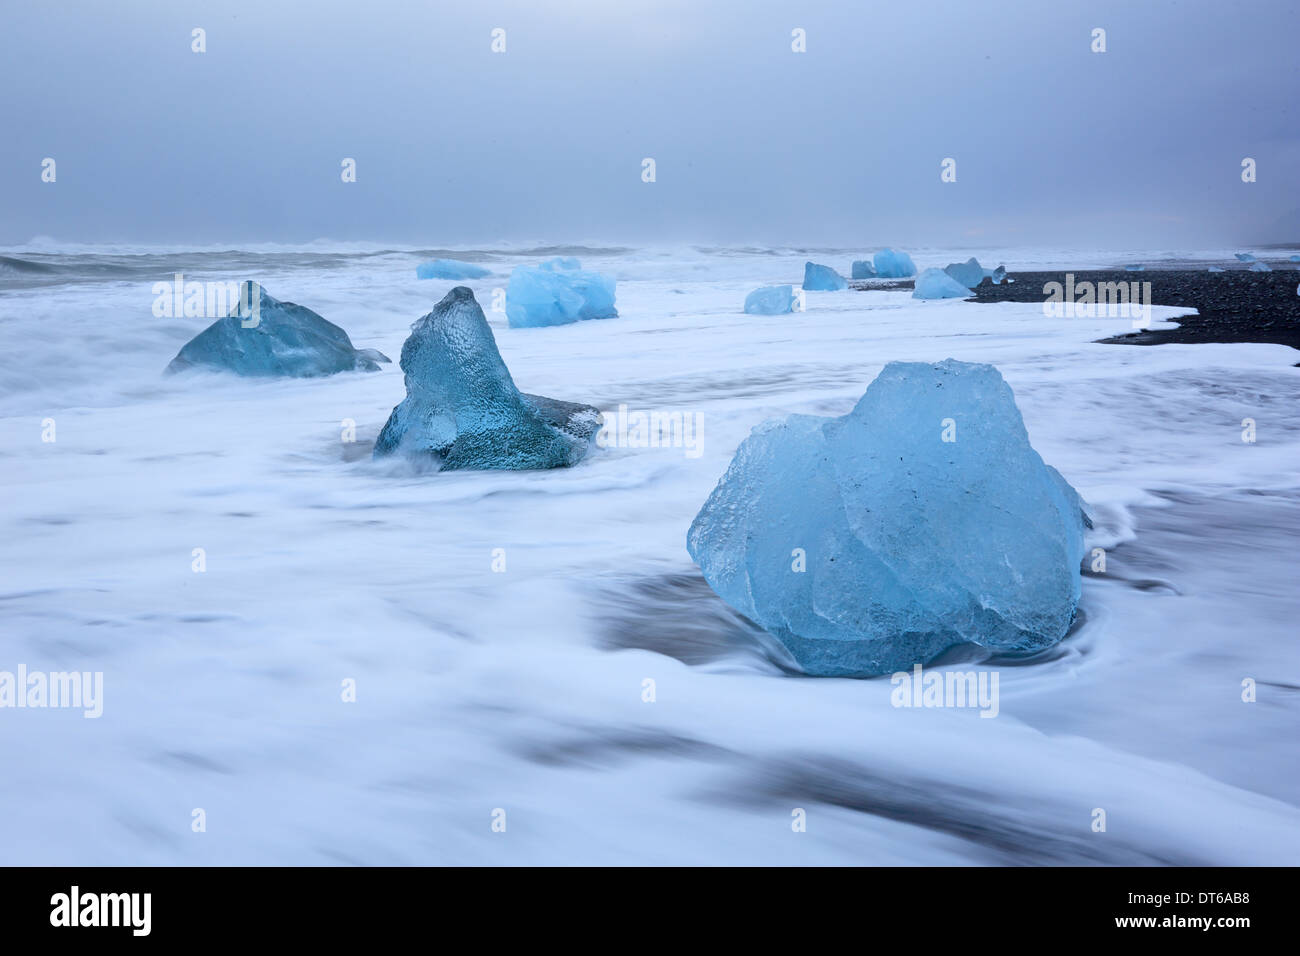
{"type": "Polygon", "coordinates": [[[686,546],[807,672],[875,675],[1061,640],[1083,515],[996,368],[893,362],[842,418],[755,428],[686,546]]]}

